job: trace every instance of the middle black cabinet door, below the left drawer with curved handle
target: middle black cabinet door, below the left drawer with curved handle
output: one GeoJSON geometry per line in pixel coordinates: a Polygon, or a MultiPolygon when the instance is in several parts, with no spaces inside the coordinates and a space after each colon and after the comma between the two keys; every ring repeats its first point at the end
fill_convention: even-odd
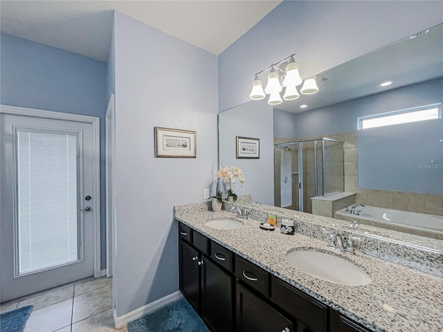
{"type": "Polygon", "coordinates": [[[233,277],[203,257],[201,317],[212,331],[233,331],[233,277]]]}

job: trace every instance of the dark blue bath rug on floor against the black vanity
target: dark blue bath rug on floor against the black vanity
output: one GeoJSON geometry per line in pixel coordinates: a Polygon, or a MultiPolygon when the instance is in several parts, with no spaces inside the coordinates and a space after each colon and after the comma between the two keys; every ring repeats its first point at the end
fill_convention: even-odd
{"type": "Polygon", "coordinates": [[[180,299],[127,324],[129,332],[209,332],[199,315],[180,299]]]}

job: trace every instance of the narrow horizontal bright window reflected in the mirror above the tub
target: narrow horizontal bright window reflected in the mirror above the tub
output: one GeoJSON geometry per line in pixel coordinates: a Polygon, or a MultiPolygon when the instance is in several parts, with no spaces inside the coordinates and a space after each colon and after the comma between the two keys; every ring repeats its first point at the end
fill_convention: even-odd
{"type": "Polygon", "coordinates": [[[442,118],[442,104],[431,104],[412,109],[401,109],[387,113],[375,114],[374,116],[362,116],[357,118],[358,129],[368,129],[374,127],[390,126],[391,124],[401,124],[442,118]]]}

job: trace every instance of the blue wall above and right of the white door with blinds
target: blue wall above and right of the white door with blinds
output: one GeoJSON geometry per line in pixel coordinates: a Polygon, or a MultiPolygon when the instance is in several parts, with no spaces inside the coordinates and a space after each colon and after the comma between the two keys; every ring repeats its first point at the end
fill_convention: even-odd
{"type": "Polygon", "coordinates": [[[106,63],[1,34],[0,103],[100,118],[101,266],[106,266],[106,63]]]}

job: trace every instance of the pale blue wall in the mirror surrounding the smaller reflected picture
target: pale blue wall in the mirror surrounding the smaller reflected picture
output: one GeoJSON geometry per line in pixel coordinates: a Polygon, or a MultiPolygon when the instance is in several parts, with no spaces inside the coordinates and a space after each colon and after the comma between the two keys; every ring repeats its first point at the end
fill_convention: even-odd
{"type": "MultiPolygon", "coordinates": [[[[235,183],[238,195],[253,194],[253,201],[274,204],[273,190],[273,109],[265,101],[251,100],[219,114],[219,158],[224,167],[238,166],[242,169],[245,181],[243,185],[235,183]],[[259,159],[237,159],[235,136],[260,139],[259,159]],[[251,174],[260,173],[260,180],[251,178],[251,174]]],[[[215,190],[211,194],[215,194],[215,190]]]]}

